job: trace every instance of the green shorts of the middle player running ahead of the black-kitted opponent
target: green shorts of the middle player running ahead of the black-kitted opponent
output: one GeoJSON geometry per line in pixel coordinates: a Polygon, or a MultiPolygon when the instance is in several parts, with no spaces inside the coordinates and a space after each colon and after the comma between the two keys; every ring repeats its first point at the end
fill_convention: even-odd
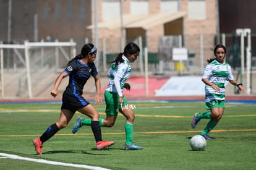
{"type": "MultiPolygon", "coordinates": [[[[121,105],[119,104],[118,94],[113,93],[111,91],[105,91],[104,96],[105,96],[105,102],[106,102],[105,113],[113,116],[117,115],[118,110],[121,109],[121,105]]],[[[122,97],[122,99],[124,100],[124,106],[129,104],[126,98],[124,98],[124,96],[122,97]]]]}

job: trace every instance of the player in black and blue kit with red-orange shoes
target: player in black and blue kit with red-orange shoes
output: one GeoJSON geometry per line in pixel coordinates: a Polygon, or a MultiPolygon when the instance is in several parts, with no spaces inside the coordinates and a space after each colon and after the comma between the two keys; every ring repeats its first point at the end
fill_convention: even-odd
{"type": "Polygon", "coordinates": [[[66,127],[74,116],[75,111],[79,111],[80,113],[90,117],[90,120],[92,121],[91,127],[96,141],[96,149],[101,150],[102,148],[109,147],[114,144],[114,142],[102,140],[101,127],[99,123],[100,114],[98,111],[96,111],[92,104],[90,104],[82,96],[83,86],[92,75],[95,79],[96,86],[96,104],[102,103],[100,96],[100,79],[94,64],[96,53],[96,46],[90,43],[84,45],[81,49],[81,53],[69,61],[66,69],[64,69],[57,77],[53,90],[51,90],[52,96],[56,97],[58,95],[58,87],[61,84],[62,79],[68,75],[69,84],[67,85],[62,96],[62,106],[59,120],[50,125],[40,138],[35,138],[33,140],[35,150],[39,155],[42,155],[41,150],[43,143],[45,143],[49,138],[53,137],[53,135],[56,134],[60,129],[66,127]]]}

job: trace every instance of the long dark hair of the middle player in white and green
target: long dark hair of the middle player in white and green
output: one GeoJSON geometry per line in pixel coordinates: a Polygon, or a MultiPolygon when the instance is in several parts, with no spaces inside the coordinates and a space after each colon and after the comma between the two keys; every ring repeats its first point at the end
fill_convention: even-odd
{"type": "Polygon", "coordinates": [[[111,63],[114,63],[114,66],[117,66],[119,63],[124,62],[124,59],[122,59],[122,55],[127,57],[127,54],[136,54],[137,52],[140,52],[140,48],[135,43],[128,43],[126,47],[124,48],[124,52],[119,53],[117,57],[112,61],[111,63]]]}

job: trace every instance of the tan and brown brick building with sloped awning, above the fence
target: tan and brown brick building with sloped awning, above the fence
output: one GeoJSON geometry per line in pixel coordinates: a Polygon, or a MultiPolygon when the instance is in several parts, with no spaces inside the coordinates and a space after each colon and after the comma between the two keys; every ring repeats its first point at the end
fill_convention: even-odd
{"type": "MultiPolygon", "coordinates": [[[[1,19],[6,23],[0,27],[1,40],[6,41],[11,31],[11,40],[18,41],[89,38],[94,42],[94,0],[1,1],[1,19]],[[7,27],[10,1],[11,28],[7,27]]],[[[160,36],[182,35],[182,46],[190,46],[195,43],[186,36],[207,34],[212,46],[216,35],[216,1],[211,0],[98,0],[96,12],[98,39],[105,38],[109,48],[120,46],[121,35],[126,41],[142,36],[143,46],[151,52],[157,52],[160,36]]]]}

